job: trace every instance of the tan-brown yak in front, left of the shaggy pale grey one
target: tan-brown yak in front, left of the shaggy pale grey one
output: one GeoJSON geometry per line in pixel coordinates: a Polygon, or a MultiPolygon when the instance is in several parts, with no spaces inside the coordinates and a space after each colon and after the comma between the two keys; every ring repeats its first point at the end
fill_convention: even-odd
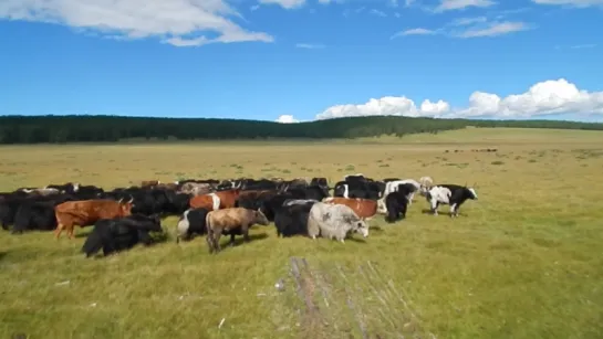
{"type": "Polygon", "coordinates": [[[269,221],[260,211],[243,208],[231,208],[210,211],[205,219],[209,253],[220,252],[220,236],[230,234],[230,245],[235,245],[235,235],[242,234],[249,242],[249,227],[253,224],[268,225],[269,221]]]}

